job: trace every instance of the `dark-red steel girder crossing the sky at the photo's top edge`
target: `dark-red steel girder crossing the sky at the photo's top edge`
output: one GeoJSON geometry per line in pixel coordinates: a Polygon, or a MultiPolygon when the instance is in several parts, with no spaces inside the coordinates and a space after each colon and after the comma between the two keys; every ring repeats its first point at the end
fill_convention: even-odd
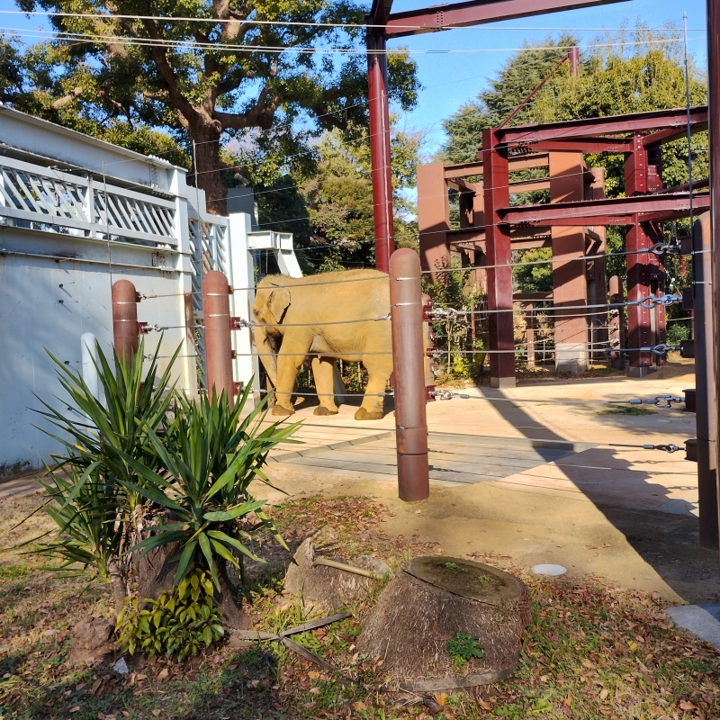
{"type": "MultiPolygon", "coordinates": [[[[454,27],[462,28],[468,25],[481,25],[618,2],[626,2],[626,0],[471,0],[471,2],[442,4],[421,10],[409,10],[405,13],[393,13],[387,21],[385,33],[388,38],[401,38],[423,32],[437,32],[454,27]]],[[[383,0],[375,0],[373,11],[376,4],[383,4],[383,0]]],[[[370,16],[374,16],[373,11],[370,16]]]]}

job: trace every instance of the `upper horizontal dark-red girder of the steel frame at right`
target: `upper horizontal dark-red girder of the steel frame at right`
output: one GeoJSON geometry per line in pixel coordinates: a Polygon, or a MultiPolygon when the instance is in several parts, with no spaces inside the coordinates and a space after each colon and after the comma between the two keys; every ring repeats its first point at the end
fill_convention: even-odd
{"type": "MultiPolygon", "coordinates": [[[[707,127],[707,105],[690,108],[690,125],[696,130],[707,127]]],[[[597,138],[598,135],[628,134],[688,127],[688,109],[637,112],[633,115],[615,115],[590,120],[550,122],[544,125],[493,130],[500,146],[532,145],[543,140],[597,138]]],[[[686,130],[687,131],[687,130],[686,130]]],[[[660,139],[655,140],[661,141],[660,139]]]]}

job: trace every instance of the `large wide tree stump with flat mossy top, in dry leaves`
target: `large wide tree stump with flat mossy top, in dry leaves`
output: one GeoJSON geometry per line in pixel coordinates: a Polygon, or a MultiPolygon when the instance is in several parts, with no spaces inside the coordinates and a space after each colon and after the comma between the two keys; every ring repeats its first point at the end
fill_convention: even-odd
{"type": "Polygon", "coordinates": [[[356,652],[383,659],[392,689],[487,685],[515,671],[529,619],[529,593],[513,575],[469,560],[419,557],[381,593],[356,652]],[[458,633],[477,639],[482,658],[463,662],[456,648],[451,656],[448,641],[458,633]]]}

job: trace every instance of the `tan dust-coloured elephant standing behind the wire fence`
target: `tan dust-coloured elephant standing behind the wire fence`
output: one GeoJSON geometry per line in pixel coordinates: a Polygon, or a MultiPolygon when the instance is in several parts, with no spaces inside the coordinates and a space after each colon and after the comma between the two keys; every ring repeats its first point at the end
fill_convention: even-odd
{"type": "Polygon", "coordinates": [[[377,270],[338,270],[300,278],[267,275],[256,288],[253,336],[270,382],[273,415],[291,415],[298,370],[312,356],[320,396],[315,415],[336,415],[335,362],[362,361],[368,373],[356,420],[383,418],[392,374],[390,284],[377,270]],[[327,355],[326,355],[327,354],[327,355]]]}

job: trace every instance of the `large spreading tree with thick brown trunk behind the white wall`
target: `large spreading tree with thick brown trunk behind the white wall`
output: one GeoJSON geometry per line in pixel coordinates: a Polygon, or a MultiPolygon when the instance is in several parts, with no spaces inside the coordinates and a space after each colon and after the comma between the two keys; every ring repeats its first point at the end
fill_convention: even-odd
{"type": "MultiPolygon", "coordinates": [[[[196,158],[197,185],[224,211],[220,140],[256,132],[276,176],[321,130],[367,121],[365,10],[353,0],[18,0],[53,13],[36,83],[58,120],[165,127],[196,158]],[[72,15],[75,13],[76,15],[72,15]],[[85,14],[85,16],[79,16],[85,14]],[[350,26],[347,26],[350,25],[350,26]],[[349,52],[345,52],[349,49],[349,52]],[[260,130],[258,133],[257,130],[260,130]]],[[[390,95],[417,101],[416,67],[388,57],[390,95]]]]}

